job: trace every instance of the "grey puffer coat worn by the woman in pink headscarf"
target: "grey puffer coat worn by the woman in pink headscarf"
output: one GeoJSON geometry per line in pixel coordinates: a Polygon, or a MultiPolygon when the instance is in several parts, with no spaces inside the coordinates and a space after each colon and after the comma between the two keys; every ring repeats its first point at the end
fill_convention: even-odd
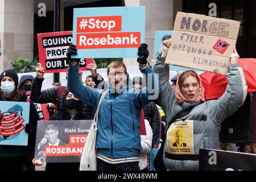
{"type": "MultiPolygon", "coordinates": [[[[218,149],[220,144],[219,133],[221,123],[225,118],[235,113],[245,101],[247,85],[242,69],[238,64],[228,66],[226,78],[228,85],[225,93],[218,100],[206,102],[178,104],[174,89],[169,83],[169,65],[164,64],[165,58],[157,57],[154,72],[159,77],[160,97],[158,102],[166,113],[167,122],[180,111],[194,106],[188,115],[179,120],[193,120],[193,150],[194,155],[199,155],[200,148],[218,149]],[[204,117],[201,117],[204,115],[204,117]],[[204,118],[204,119],[199,119],[204,118]]],[[[199,170],[198,160],[174,160],[168,154],[167,140],[164,145],[163,162],[170,170],[199,170]]],[[[181,156],[181,154],[180,154],[181,156]]],[[[181,156],[182,159],[183,156],[181,156]]]]}

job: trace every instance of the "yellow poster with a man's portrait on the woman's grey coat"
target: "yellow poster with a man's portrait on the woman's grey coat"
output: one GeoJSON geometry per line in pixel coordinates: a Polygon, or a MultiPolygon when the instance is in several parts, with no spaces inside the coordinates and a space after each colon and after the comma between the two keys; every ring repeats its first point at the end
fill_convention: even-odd
{"type": "Polygon", "coordinates": [[[172,123],[167,131],[167,144],[170,154],[194,154],[193,120],[172,123]]]}

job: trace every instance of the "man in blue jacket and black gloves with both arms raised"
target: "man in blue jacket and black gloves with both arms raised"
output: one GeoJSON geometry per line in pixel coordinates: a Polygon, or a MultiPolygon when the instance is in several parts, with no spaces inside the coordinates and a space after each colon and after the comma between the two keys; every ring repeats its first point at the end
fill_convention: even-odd
{"type": "MultiPolygon", "coordinates": [[[[71,59],[72,54],[77,54],[74,45],[70,45],[67,52],[70,60],[68,89],[81,101],[97,108],[104,90],[92,89],[81,84],[79,63],[76,59],[71,59]]],[[[152,83],[153,90],[147,87],[141,90],[133,89],[132,82],[127,84],[129,78],[125,64],[113,61],[108,65],[109,87],[100,106],[96,139],[98,171],[139,170],[141,109],[150,102],[150,98],[158,97],[159,90],[158,81],[147,63],[147,44],[141,44],[138,55],[143,56],[137,59],[139,68],[146,74],[145,79],[152,83]]]]}

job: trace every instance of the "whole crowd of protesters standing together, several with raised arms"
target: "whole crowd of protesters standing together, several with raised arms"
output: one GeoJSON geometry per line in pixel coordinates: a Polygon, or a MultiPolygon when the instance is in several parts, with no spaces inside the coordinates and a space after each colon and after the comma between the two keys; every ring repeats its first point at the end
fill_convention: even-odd
{"type": "MultiPolygon", "coordinates": [[[[97,170],[147,170],[147,155],[151,148],[159,149],[155,160],[156,169],[199,170],[199,149],[220,148],[220,127],[225,118],[235,113],[243,104],[247,93],[245,77],[237,64],[239,55],[234,49],[226,78],[226,92],[217,100],[205,101],[204,87],[199,75],[189,70],[169,82],[169,65],[164,64],[172,40],[164,36],[154,63],[149,64],[147,44],[138,48],[138,63],[142,77],[133,80],[126,65],[113,61],[108,65],[108,81],[97,73],[95,61],[87,65],[92,73],[82,82],[76,46],[69,46],[70,61],[67,72],[67,87],[55,86],[42,90],[44,68],[36,67],[36,76],[18,75],[13,69],[0,76],[0,101],[30,102],[30,122],[26,125],[28,146],[0,145],[0,170],[35,170],[42,166],[36,159],[36,125],[39,120],[34,103],[55,105],[49,120],[93,119],[102,93],[104,100],[99,109],[96,139],[97,170]],[[153,69],[154,67],[154,69],[153,69]],[[153,71],[154,70],[154,71],[153,71]],[[141,110],[144,113],[146,135],[140,133],[141,110]],[[193,120],[194,154],[170,154],[167,131],[176,121],[193,120]],[[162,144],[162,145],[161,145],[162,144]],[[160,147],[161,146],[161,147],[160,147]],[[14,165],[15,164],[15,165],[14,165]]],[[[42,140],[46,143],[46,139],[42,140]]],[[[179,142],[178,142],[179,143],[179,142]]],[[[183,143],[184,145],[184,143],[183,143]]],[[[79,163],[47,163],[46,170],[79,170],[79,163]]]]}

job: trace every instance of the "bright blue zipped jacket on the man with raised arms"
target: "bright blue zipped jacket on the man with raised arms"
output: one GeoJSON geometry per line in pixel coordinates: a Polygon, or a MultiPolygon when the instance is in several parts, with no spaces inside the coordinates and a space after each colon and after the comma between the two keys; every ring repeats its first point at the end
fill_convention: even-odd
{"type": "MultiPolygon", "coordinates": [[[[141,69],[151,82],[152,90],[144,87],[134,89],[132,82],[121,93],[112,93],[111,86],[99,109],[96,148],[98,154],[108,158],[128,158],[138,156],[141,152],[140,118],[141,109],[158,98],[158,81],[151,67],[141,69]],[[149,74],[151,73],[151,74],[149,74]],[[154,90],[154,92],[152,92],[154,90]],[[154,98],[154,99],[156,99],[154,98]]],[[[79,81],[79,66],[68,68],[68,90],[86,104],[97,108],[104,90],[97,90],[82,85],[79,81]]]]}

